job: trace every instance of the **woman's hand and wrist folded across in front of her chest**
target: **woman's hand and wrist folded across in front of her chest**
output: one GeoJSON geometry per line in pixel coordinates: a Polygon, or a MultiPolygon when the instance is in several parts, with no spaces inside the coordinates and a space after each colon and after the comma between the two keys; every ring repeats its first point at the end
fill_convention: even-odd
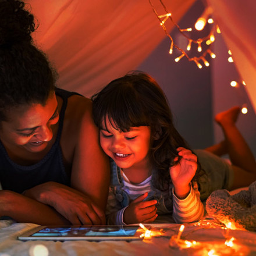
{"type": "Polygon", "coordinates": [[[104,213],[89,197],[63,184],[47,182],[23,194],[50,205],[72,225],[105,225],[104,213]]]}

